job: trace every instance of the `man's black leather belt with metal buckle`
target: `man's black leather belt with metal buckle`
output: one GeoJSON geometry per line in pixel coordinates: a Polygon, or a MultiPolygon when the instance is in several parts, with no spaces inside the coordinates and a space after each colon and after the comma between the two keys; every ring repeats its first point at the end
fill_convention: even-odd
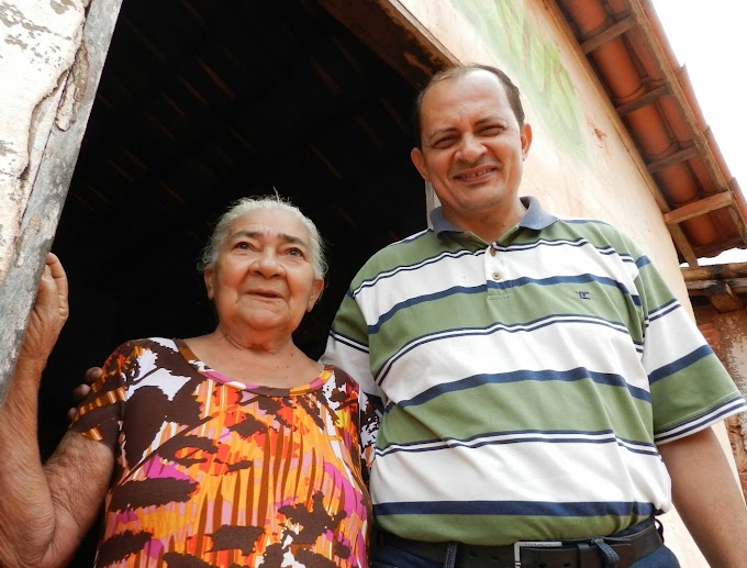
{"type": "Polygon", "coordinates": [[[625,568],[662,544],[653,522],[640,532],[625,536],[531,541],[506,546],[425,543],[384,531],[378,531],[375,542],[446,568],[625,568]]]}

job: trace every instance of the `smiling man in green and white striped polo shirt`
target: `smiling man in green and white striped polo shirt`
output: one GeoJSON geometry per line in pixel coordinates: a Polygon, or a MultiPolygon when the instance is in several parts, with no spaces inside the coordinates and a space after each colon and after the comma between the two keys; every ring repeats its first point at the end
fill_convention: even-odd
{"type": "Polygon", "coordinates": [[[363,267],[325,354],[382,401],[375,565],[678,566],[651,521],[673,497],[712,566],[747,566],[711,430],[745,400],[635,243],[519,197],[516,87],[442,73],[416,135],[433,230],[363,267]]]}

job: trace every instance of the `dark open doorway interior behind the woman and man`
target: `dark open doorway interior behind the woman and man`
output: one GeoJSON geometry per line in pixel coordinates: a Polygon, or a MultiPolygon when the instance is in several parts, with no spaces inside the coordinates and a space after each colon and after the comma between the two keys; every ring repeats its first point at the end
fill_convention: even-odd
{"type": "Polygon", "coordinates": [[[71,316],[42,387],[43,454],[116,345],[214,327],[194,264],[239,197],[277,190],[328,243],[328,287],[296,337],[319,357],[357,269],[425,225],[414,93],[314,1],[125,0],[53,245],[71,316]]]}

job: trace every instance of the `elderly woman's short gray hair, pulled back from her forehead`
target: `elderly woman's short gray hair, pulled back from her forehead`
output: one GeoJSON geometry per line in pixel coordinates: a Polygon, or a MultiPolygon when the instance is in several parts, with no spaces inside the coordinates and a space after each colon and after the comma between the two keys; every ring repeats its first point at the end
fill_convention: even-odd
{"type": "Polygon", "coordinates": [[[296,219],[298,219],[309,230],[311,236],[311,265],[314,269],[316,278],[324,278],[327,271],[326,259],[324,258],[324,242],[319,234],[319,230],[314,222],[306,215],[301,213],[301,210],[293,205],[289,200],[280,196],[263,196],[263,197],[247,197],[242,198],[231,204],[228,210],[221,215],[215,224],[213,234],[208,240],[208,244],[202,250],[200,260],[198,261],[198,269],[204,272],[208,268],[213,268],[218,260],[218,255],[221,247],[228,236],[228,227],[239,216],[243,216],[253,211],[286,211],[296,219]]]}

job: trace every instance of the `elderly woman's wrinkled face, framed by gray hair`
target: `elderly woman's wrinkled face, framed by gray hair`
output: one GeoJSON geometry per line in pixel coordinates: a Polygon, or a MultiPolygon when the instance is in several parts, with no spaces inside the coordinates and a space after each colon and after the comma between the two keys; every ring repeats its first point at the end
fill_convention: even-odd
{"type": "Polygon", "coordinates": [[[236,219],[215,265],[204,272],[221,325],[230,333],[290,336],[324,286],[314,277],[310,255],[309,231],[287,211],[253,211],[236,219]]]}

